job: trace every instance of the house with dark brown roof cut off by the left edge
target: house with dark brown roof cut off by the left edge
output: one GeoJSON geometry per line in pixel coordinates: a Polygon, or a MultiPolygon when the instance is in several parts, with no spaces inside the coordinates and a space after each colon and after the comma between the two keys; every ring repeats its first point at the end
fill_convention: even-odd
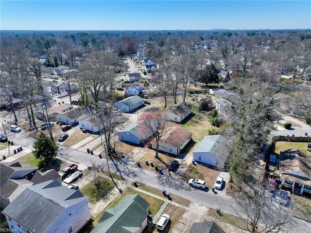
{"type": "Polygon", "coordinates": [[[8,206],[27,187],[50,179],[61,182],[54,169],[41,173],[35,167],[17,161],[0,163],[0,179],[1,208],[8,206]]]}

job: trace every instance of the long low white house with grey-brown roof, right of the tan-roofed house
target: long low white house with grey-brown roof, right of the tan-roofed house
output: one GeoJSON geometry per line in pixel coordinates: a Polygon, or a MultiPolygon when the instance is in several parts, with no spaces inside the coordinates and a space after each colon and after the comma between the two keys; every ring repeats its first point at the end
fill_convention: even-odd
{"type": "Polygon", "coordinates": [[[93,110],[87,106],[74,108],[56,116],[57,120],[69,125],[74,125],[93,115],[93,110]]]}

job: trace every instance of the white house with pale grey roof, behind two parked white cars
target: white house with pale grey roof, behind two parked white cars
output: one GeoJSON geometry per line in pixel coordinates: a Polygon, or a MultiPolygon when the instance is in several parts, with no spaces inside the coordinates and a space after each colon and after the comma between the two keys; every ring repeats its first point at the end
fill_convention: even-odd
{"type": "Polygon", "coordinates": [[[193,150],[193,160],[224,168],[230,147],[222,135],[204,136],[193,150]]]}

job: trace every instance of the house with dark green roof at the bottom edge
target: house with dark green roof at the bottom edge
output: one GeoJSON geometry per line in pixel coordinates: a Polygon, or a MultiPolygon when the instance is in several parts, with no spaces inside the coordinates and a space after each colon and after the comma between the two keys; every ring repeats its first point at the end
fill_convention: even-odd
{"type": "Polygon", "coordinates": [[[138,194],[127,195],[104,212],[91,233],[141,233],[148,223],[148,206],[138,194]]]}

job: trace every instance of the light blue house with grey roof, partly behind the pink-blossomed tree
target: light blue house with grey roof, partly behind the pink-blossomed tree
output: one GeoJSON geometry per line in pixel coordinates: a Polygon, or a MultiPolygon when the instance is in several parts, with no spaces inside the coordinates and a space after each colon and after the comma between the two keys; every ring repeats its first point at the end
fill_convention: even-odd
{"type": "MultiPolygon", "coordinates": [[[[156,125],[156,124],[155,124],[156,125]]],[[[134,122],[131,125],[127,125],[118,132],[118,138],[120,141],[140,144],[149,138],[153,134],[150,132],[139,132],[138,122],[134,122]]]]}

